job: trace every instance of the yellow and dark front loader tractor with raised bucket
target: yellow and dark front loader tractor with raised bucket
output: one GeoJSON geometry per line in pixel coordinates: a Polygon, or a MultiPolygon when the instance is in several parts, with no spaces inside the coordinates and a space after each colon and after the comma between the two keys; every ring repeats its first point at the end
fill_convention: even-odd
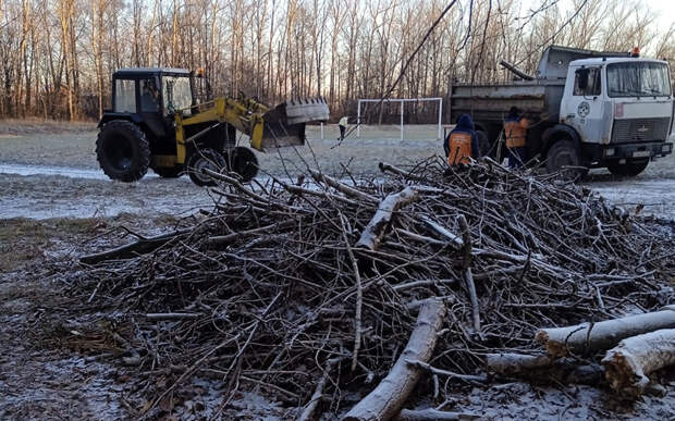
{"type": "Polygon", "coordinates": [[[112,179],[135,182],[152,169],[162,177],[187,173],[211,185],[208,168],[234,172],[243,181],[258,173],[244,134],[258,151],[299,146],[305,125],[327,121],[321,98],[285,101],[274,109],[250,98],[216,98],[198,103],[200,77],[182,69],[122,69],[112,76],[112,110],[99,122],[96,156],[112,179]]]}

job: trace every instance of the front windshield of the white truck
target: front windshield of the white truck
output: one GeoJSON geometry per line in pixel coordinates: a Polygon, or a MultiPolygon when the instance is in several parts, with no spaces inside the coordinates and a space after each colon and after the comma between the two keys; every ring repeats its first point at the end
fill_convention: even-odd
{"type": "Polygon", "coordinates": [[[665,63],[635,62],[608,65],[610,97],[671,96],[671,78],[665,63]]]}

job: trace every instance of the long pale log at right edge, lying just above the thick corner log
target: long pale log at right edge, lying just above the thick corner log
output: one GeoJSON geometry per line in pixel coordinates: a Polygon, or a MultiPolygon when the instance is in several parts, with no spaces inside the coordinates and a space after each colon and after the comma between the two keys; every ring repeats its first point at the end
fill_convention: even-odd
{"type": "Polygon", "coordinates": [[[598,323],[542,329],[535,335],[535,340],[544,344],[551,356],[564,357],[569,354],[610,349],[622,339],[660,329],[675,329],[675,311],[665,308],[598,323]]]}

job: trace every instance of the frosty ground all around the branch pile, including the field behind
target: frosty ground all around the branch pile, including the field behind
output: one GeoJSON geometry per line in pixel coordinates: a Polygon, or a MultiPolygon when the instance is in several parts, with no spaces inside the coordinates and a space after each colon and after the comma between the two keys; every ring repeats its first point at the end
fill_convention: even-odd
{"type": "MultiPolygon", "coordinates": [[[[326,132],[326,137],[335,133],[326,132]]],[[[433,127],[414,133],[416,140],[400,141],[396,128],[366,131],[367,138],[320,140],[310,131],[311,148],[258,154],[261,166],[279,177],[294,178],[304,162],[330,173],[342,173],[340,163],[356,174],[377,173],[379,161],[406,164],[442,151],[433,127]],[[427,137],[427,139],[424,139],[427,137]],[[284,158],[282,160],[282,157],[284,158]]],[[[50,274],[73,264],[73,259],[102,247],[112,230],[130,226],[142,234],[171,230],[176,219],[209,207],[208,190],[187,177],[162,179],[149,174],[138,183],[107,179],[94,156],[93,125],[0,125],[0,418],[120,418],[127,406],[139,408],[138,391],[131,391],[128,373],[77,352],[46,347],[49,332],[35,332],[45,304],[63,299],[50,274]],[[22,218],[19,218],[22,216],[22,218]],[[27,219],[26,219],[27,218],[27,219]],[[21,257],[21,258],[19,258],[21,257]],[[134,400],[134,397],[136,400],[134,400]],[[128,400],[127,400],[128,399],[128,400]],[[130,404],[131,403],[131,404],[130,404]]],[[[265,183],[266,176],[259,179],[265,183]]],[[[614,202],[642,212],[675,219],[675,157],[654,162],[634,179],[614,179],[593,171],[586,182],[614,202]]],[[[116,236],[118,243],[128,237],[116,236]]],[[[66,304],[63,305],[82,305],[66,304]]],[[[672,379],[672,375],[670,376],[672,379]]],[[[482,413],[488,419],[641,418],[675,419],[675,384],[663,398],[646,397],[623,406],[604,392],[588,387],[539,387],[508,383],[457,396],[457,410],[482,413]]],[[[196,380],[187,391],[192,410],[177,412],[199,419],[220,405],[217,384],[196,380]],[[194,408],[207,408],[199,412],[194,408]]],[[[238,394],[225,418],[285,419],[290,414],[258,394],[238,394]]],[[[185,410],[185,408],[181,409],[185,410]]]]}

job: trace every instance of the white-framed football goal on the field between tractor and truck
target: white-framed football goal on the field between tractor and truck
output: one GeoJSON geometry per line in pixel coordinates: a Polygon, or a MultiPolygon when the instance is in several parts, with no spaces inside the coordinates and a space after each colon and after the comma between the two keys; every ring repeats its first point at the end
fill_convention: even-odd
{"type": "Polygon", "coordinates": [[[442,115],[443,98],[363,98],[354,122],[356,137],[440,139],[442,115]]]}

